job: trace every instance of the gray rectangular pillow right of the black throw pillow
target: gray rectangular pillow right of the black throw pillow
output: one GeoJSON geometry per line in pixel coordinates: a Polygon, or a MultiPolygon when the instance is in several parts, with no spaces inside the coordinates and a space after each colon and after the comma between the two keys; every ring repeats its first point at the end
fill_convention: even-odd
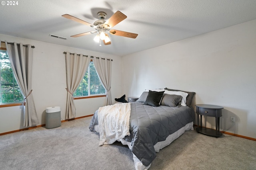
{"type": "Polygon", "coordinates": [[[181,100],[182,100],[182,96],[180,95],[164,94],[160,105],[169,106],[169,107],[180,107],[181,100]]]}

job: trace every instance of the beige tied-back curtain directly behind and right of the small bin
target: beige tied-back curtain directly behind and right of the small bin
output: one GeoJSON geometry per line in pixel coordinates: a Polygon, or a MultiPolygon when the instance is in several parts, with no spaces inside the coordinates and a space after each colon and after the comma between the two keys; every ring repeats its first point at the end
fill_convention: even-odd
{"type": "Polygon", "coordinates": [[[66,78],[67,78],[67,104],[66,119],[76,117],[76,106],[74,104],[73,94],[78,88],[86,70],[90,64],[91,58],[76,53],[66,52],[66,78]]]}

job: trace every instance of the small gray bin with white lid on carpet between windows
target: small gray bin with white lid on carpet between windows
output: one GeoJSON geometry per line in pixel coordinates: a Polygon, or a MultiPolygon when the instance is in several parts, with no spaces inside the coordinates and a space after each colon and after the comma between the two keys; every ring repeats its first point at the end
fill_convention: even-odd
{"type": "Polygon", "coordinates": [[[46,108],[46,129],[52,129],[61,126],[60,107],[53,106],[46,108]]]}

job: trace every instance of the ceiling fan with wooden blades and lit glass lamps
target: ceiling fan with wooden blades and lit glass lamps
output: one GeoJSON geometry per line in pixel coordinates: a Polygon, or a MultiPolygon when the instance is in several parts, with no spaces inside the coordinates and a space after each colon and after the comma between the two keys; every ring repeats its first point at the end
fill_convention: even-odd
{"type": "MultiPolygon", "coordinates": [[[[124,15],[122,12],[117,11],[115,14],[113,14],[108,19],[108,21],[104,20],[106,18],[106,16],[107,16],[107,14],[105,12],[98,12],[98,17],[100,18],[100,20],[97,20],[94,22],[94,24],[91,24],[86,21],[80,20],[74,16],[71,16],[69,14],[62,15],[62,17],[64,17],[64,18],[68,18],[70,20],[82,23],[84,25],[89,25],[90,27],[96,29],[96,31],[80,33],[80,34],[72,35],[70,37],[80,37],[80,36],[84,36],[84,35],[89,35],[91,33],[97,33],[96,37],[94,38],[94,41],[100,42],[100,40],[102,40],[105,45],[110,45],[111,42],[110,42],[110,39],[109,39],[107,33],[110,33],[112,35],[129,37],[129,38],[136,38],[138,36],[138,34],[136,34],[136,33],[129,33],[129,32],[125,32],[125,31],[111,29],[116,24],[118,24],[119,22],[121,22],[122,20],[127,18],[127,16],[124,15]]],[[[101,43],[100,43],[100,46],[101,46],[101,43]]]]}

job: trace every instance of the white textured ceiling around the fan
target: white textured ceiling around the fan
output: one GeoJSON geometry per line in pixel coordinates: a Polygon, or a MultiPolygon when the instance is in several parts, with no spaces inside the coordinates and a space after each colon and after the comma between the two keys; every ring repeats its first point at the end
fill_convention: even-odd
{"type": "Polygon", "coordinates": [[[22,0],[0,11],[0,33],[124,56],[255,20],[256,0],[22,0]],[[136,39],[110,35],[112,44],[99,46],[95,34],[70,37],[94,29],[62,17],[93,24],[98,12],[106,12],[108,20],[118,10],[127,18],[112,29],[138,33],[136,39]]]}

